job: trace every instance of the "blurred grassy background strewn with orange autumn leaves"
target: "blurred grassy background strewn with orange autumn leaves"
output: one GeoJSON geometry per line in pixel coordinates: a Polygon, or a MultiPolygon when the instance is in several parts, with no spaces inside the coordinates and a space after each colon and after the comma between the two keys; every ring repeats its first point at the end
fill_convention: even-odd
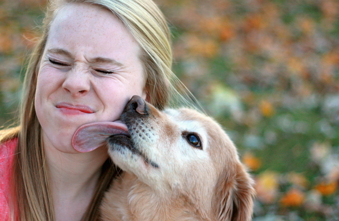
{"type": "MultiPolygon", "coordinates": [[[[254,221],[339,221],[339,1],[155,0],[177,76],[256,180],[254,221]]],[[[46,0],[0,0],[0,124],[46,0]]]]}

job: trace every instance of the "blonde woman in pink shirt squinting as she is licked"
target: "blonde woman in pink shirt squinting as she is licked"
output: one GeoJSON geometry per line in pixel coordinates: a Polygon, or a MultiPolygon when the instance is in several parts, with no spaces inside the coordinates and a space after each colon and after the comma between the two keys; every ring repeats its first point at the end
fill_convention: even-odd
{"type": "Polygon", "coordinates": [[[105,147],[79,153],[72,136],[83,124],[118,120],[132,95],[164,108],[175,94],[171,60],[166,20],[152,0],[51,2],[19,126],[2,131],[1,220],[96,220],[116,169],[105,147]]]}

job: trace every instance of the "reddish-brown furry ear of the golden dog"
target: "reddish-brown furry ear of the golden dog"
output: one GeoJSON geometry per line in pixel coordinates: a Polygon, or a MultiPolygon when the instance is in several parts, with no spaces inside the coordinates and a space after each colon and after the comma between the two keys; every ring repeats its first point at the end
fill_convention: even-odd
{"type": "Polygon", "coordinates": [[[250,221],[253,212],[253,180],[242,164],[233,174],[225,169],[215,189],[213,209],[217,221],[250,221]]]}

